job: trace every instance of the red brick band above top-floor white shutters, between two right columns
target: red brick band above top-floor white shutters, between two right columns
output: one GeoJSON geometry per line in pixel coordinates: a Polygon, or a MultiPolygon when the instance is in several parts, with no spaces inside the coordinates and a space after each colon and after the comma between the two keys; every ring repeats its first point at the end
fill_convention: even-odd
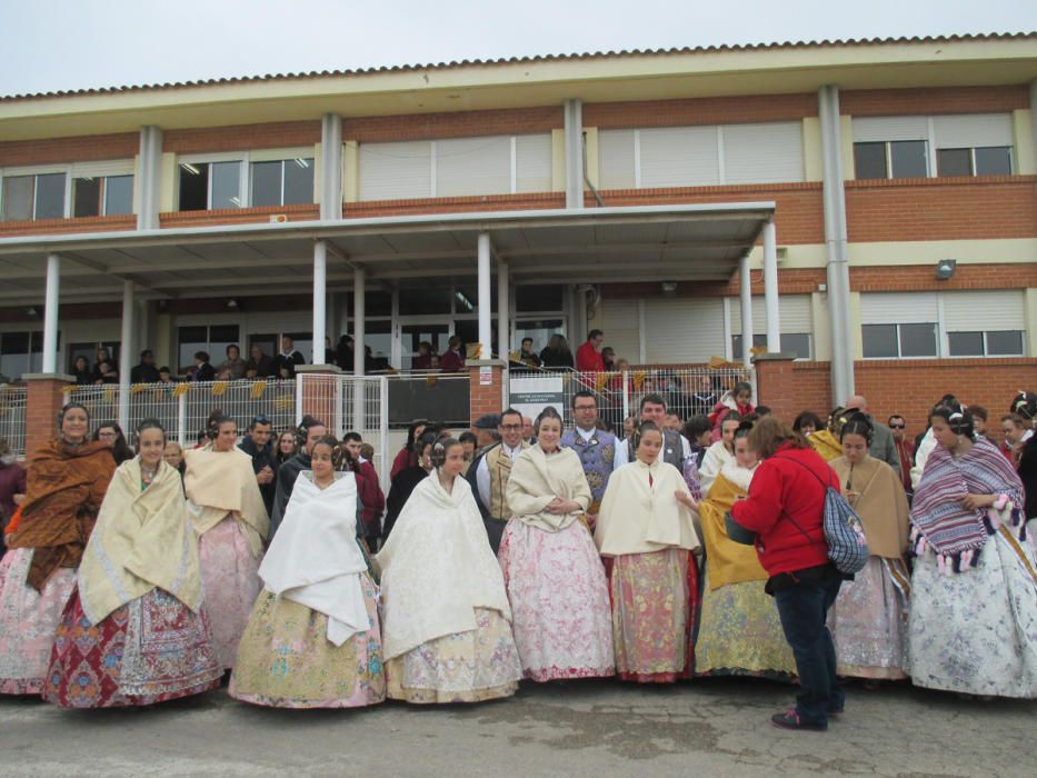
{"type": "Polygon", "coordinates": [[[584,127],[684,127],[735,124],[761,121],[796,121],[817,116],[817,94],[754,94],[646,100],[640,102],[591,102],[584,106],[584,127]]]}

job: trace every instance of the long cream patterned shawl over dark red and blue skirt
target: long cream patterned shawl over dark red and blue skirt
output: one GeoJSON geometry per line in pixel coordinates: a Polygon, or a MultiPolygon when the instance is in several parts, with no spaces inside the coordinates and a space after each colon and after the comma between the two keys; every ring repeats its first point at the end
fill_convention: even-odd
{"type": "Polygon", "coordinates": [[[91,624],[156,587],[188,608],[201,607],[198,539],[180,473],[159,465],[141,490],[140,459],[116,470],[79,566],[79,597],[91,624]]]}

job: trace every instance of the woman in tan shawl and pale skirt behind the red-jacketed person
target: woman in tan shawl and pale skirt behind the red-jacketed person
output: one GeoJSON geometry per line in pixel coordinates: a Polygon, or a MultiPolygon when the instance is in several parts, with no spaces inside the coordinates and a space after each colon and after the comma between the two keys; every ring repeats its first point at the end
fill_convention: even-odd
{"type": "Polygon", "coordinates": [[[880,680],[906,677],[910,517],[897,471],[868,455],[873,433],[866,416],[850,417],[840,433],[842,456],[828,462],[860,517],[871,553],[865,569],[839,589],[828,628],[839,675],[880,680]]]}

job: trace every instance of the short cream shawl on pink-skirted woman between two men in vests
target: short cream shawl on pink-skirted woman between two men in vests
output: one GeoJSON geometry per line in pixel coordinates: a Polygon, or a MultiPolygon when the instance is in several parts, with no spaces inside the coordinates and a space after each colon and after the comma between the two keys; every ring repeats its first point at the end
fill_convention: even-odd
{"type": "Polygon", "coordinates": [[[571,525],[591,500],[584,465],[569,448],[550,457],[539,446],[522,451],[511,467],[506,493],[512,516],[548,532],[559,532],[571,525]],[[548,513],[545,508],[556,497],[574,500],[580,509],[574,513],[548,513]]]}

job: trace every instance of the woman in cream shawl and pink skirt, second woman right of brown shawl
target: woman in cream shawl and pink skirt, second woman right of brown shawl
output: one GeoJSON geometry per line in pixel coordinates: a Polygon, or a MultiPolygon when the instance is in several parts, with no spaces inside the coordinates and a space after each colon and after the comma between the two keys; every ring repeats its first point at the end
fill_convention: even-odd
{"type": "Polygon", "coordinates": [[[270,527],[251,458],[237,447],[238,426],[217,415],[211,449],[185,451],[183,486],[199,536],[198,553],[217,654],[235,665],[238,640],[259,595],[259,560],[270,527]]]}

